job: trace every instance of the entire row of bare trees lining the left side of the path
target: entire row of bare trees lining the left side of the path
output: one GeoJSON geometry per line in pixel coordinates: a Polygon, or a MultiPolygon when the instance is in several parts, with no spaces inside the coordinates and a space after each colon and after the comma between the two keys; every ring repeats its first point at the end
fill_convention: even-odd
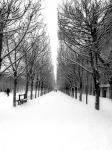
{"type": "MultiPolygon", "coordinates": [[[[16,106],[17,85],[25,82],[25,96],[30,86],[41,94],[53,88],[50,42],[41,15],[41,1],[0,1],[0,79],[13,77],[13,106],[16,106]]],[[[38,94],[39,95],[39,94],[38,94]]]]}

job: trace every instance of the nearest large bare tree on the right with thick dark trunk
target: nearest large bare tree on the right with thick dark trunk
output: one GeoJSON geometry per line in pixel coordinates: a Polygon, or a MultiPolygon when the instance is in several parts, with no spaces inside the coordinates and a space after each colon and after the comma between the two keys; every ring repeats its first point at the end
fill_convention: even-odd
{"type": "Polygon", "coordinates": [[[74,59],[77,65],[93,76],[97,110],[100,108],[100,41],[104,36],[102,26],[107,15],[107,6],[106,2],[97,0],[81,0],[80,2],[71,0],[59,8],[58,14],[61,38],[69,50],[87,60],[91,66],[89,70],[84,64],[74,59]]]}

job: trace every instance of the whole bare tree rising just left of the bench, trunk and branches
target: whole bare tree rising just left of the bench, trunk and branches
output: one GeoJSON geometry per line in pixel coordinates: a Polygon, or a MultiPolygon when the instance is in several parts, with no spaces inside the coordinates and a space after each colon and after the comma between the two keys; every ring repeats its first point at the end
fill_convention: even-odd
{"type": "MultiPolygon", "coordinates": [[[[20,5],[18,6],[19,9],[20,5]]],[[[29,35],[31,32],[36,33],[36,29],[39,28],[40,24],[37,22],[38,16],[40,16],[40,3],[37,2],[35,5],[30,2],[30,6],[28,5],[27,13],[22,16],[22,19],[18,17],[18,26],[20,27],[18,30],[15,30],[13,34],[11,32],[8,32],[8,27],[5,29],[7,32],[5,33],[4,37],[4,51],[2,60],[5,60],[7,62],[7,58],[10,62],[10,65],[5,68],[4,71],[7,69],[10,69],[12,67],[13,76],[14,76],[14,97],[13,97],[13,106],[16,106],[16,91],[17,91],[17,78],[24,72],[24,62],[22,61],[25,57],[25,54],[22,53],[22,49],[25,48],[25,40],[28,40],[28,45],[26,47],[26,53],[31,51],[34,45],[34,41],[31,41],[31,38],[29,38],[29,35]],[[28,9],[30,7],[30,9],[28,9]],[[35,21],[37,17],[37,20],[35,21]],[[23,22],[22,22],[23,21],[23,22]],[[38,23],[38,24],[37,24],[38,23]],[[26,39],[25,39],[26,38],[26,39]],[[30,42],[31,41],[31,42],[30,42]],[[21,64],[22,62],[22,64],[21,64]],[[23,71],[19,71],[19,70],[23,71]],[[19,72],[19,74],[18,74],[19,72]]],[[[25,8],[26,9],[26,8],[25,8]]],[[[16,18],[17,19],[17,18],[16,18]]],[[[12,20],[12,19],[11,19],[12,20]]],[[[15,23],[13,22],[11,28],[15,23]]],[[[4,72],[3,71],[3,72],[4,72]]]]}

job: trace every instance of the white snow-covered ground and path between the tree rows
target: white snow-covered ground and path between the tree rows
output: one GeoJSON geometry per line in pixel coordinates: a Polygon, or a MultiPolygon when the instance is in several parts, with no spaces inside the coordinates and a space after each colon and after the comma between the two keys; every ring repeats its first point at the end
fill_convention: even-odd
{"type": "Polygon", "coordinates": [[[112,103],[96,111],[61,92],[12,107],[0,94],[0,150],[112,150],[112,103]]]}

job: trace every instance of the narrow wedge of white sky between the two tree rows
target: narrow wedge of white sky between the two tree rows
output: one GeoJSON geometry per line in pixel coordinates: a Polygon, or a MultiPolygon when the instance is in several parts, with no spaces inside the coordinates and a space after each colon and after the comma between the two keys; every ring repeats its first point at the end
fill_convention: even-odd
{"type": "Polygon", "coordinates": [[[56,56],[57,56],[57,5],[61,0],[44,0],[44,15],[50,36],[52,60],[56,75],[56,56]]]}

